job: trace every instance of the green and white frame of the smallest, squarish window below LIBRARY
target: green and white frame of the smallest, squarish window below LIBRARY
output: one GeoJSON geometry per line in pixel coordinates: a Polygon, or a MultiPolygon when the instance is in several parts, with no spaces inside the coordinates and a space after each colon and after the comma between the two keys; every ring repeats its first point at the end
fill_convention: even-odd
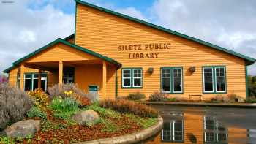
{"type": "MultiPolygon", "coordinates": [[[[136,77],[137,78],[137,77],[136,77]]],[[[121,69],[121,88],[143,88],[143,68],[141,67],[132,67],[132,68],[122,68],[121,69]],[[140,83],[141,86],[134,86],[134,70],[140,69],[141,71],[141,77],[140,77],[140,83]],[[129,70],[130,71],[130,86],[124,86],[124,70],[129,70]]]]}

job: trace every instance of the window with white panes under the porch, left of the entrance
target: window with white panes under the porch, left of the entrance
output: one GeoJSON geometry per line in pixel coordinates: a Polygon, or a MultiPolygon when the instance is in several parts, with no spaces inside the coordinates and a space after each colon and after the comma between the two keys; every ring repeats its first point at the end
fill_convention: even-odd
{"type": "MultiPolygon", "coordinates": [[[[34,91],[38,88],[38,73],[27,73],[24,75],[24,89],[25,91],[34,91]]],[[[41,74],[41,88],[43,91],[47,90],[47,74],[41,74]]]]}

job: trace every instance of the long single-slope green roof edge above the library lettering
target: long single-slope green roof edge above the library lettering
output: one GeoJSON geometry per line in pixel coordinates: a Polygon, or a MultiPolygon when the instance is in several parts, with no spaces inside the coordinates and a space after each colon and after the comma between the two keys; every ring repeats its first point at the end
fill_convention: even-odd
{"type": "Polygon", "coordinates": [[[181,33],[177,32],[177,31],[173,31],[173,30],[170,30],[170,29],[166,29],[166,28],[164,28],[164,27],[162,27],[162,26],[157,26],[157,25],[155,25],[155,24],[153,24],[153,23],[148,23],[148,22],[146,22],[146,21],[144,21],[144,20],[140,20],[140,19],[138,19],[138,18],[133,18],[133,17],[131,17],[131,16],[124,15],[124,14],[121,14],[121,13],[119,13],[119,12],[115,12],[115,11],[113,11],[113,10],[108,10],[108,9],[105,9],[105,8],[103,8],[103,7],[99,7],[99,6],[94,5],[94,4],[89,4],[88,2],[85,2],[85,1],[75,0],[75,2],[78,3],[78,4],[86,5],[86,6],[88,6],[88,7],[92,7],[92,8],[94,8],[94,9],[97,9],[97,10],[100,10],[100,11],[103,11],[103,12],[110,13],[110,14],[112,14],[112,15],[116,15],[116,16],[118,16],[118,17],[120,17],[120,18],[125,18],[125,19],[128,19],[128,20],[132,20],[132,21],[134,21],[134,22],[136,22],[136,23],[141,23],[141,24],[143,24],[143,25],[150,26],[150,27],[152,27],[152,28],[154,28],[154,29],[159,29],[160,31],[165,31],[165,32],[167,32],[167,33],[169,33],[169,34],[174,34],[174,35],[176,35],[176,36],[178,36],[178,37],[183,37],[183,38],[185,38],[185,39],[192,40],[192,41],[194,41],[194,42],[200,43],[200,44],[202,44],[202,45],[206,45],[206,46],[211,47],[211,48],[214,48],[214,49],[216,49],[216,50],[220,50],[220,51],[222,51],[222,52],[229,53],[229,54],[231,54],[231,55],[233,55],[233,56],[236,56],[236,57],[238,57],[238,58],[243,58],[244,60],[246,60],[246,61],[248,62],[247,64],[253,64],[253,63],[255,63],[255,61],[256,61],[255,58],[251,58],[251,57],[249,57],[249,56],[245,56],[245,55],[243,55],[243,54],[241,54],[241,53],[237,53],[237,52],[235,52],[235,51],[233,51],[233,50],[228,50],[228,49],[226,49],[226,48],[219,47],[218,45],[214,45],[214,44],[211,44],[211,43],[209,43],[209,42],[205,42],[205,41],[200,40],[200,39],[197,39],[197,38],[195,38],[195,37],[190,37],[190,36],[188,36],[188,35],[186,35],[186,34],[181,34],[181,33]]]}

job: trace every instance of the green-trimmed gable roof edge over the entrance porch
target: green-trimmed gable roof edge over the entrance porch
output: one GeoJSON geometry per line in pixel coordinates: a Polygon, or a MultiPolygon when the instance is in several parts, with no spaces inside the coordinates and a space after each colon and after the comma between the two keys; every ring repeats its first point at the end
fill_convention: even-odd
{"type": "MultiPolygon", "coordinates": [[[[73,35],[73,34],[72,34],[72,35],[73,35]]],[[[71,36],[72,36],[72,35],[71,35],[71,36]]],[[[69,37],[70,37],[70,36],[69,36],[69,37]]],[[[65,38],[65,39],[67,39],[67,38],[65,38]]],[[[69,38],[68,38],[68,39],[69,39],[69,38]]],[[[25,61],[26,59],[29,59],[29,58],[31,58],[32,56],[37,55],[37,53],[42,52],[42,50],[46,50],[47,48],[49,48],[49,47],[51,47],[51,46],[53,46],[53,45],[56,45],[56,44],[58,44],[58,43],[61,43],[61,44],[64,44],[64,45],[68,45],[68,46],[71,47],[71,48],[75,48],[75,49],[80,50],[80,51],[82,51],[82,52],[84,52],[84,53],[89,53],[91,56],[95,56],[95,57],[97,57],[97,58],[101,58],[101,59],[103,59],[103,60],[105,60],[105,61],[110,62],[111,64],[116,64],[118,67],[121,67],[121,63],[118,63],[118,61],[115,61],[115,60],[113,60],[112,58],[108,58],[107,56],[103,56],[103,55],[101,55],[101,54],[99,54],[99,53],[96,53],[96,52],[94,52],[94,51],[92,51],[92,50],[89,50],[89,49],[80,47],[80,46],[78,46],[78,45],[75,45],[75,44],[72,44],[72,43],[70,43],[70,42],[67,42],[67,41],[65,41],[64,39],[59,38],[59,39],[56,39],[56,40],[53,41],[53,42],[50,42],[48,45],[45,45],[44,47],[39,48],[38,50],[35,50],[35,51],[32,52],[32,53],[29,53],[29,55],[24,56],[23,58],[20,58],[20,59],[18,59],[17,61],[13,62],[13,63],[12,63],[12,67],[9,67],[8,69],[5,69],[4,72],[5,72],[5,73],[10,72],[11,69],[13,69],[13,68],[15,68],[16,66],[18,66],[22,61],[25,61]]]]}

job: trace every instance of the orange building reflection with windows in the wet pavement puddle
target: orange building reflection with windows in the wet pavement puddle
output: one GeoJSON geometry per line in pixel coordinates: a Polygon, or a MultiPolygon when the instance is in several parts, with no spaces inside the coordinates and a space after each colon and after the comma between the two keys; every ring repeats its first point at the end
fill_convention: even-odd
{"type": "Polygon", "coordinates": [[[254,130],[226,127],[214,115],[170,113],[164,115],[162,132],[146,144],[157,143],[256,143],[254,130]]]}

